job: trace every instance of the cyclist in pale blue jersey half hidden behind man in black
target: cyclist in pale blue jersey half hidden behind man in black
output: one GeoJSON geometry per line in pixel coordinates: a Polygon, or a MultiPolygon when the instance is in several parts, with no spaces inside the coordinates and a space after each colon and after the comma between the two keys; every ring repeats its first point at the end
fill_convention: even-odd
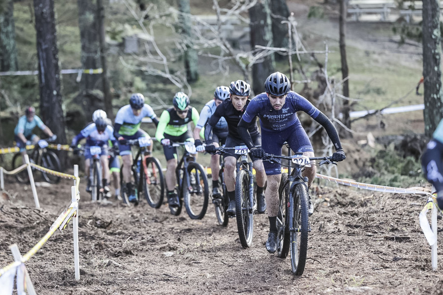
{"type": "MultiPolygon", "coordinates": [[[[212,114],[214,114],[217,106],[219,106],[223,100],[229,98],[229,88],[226,86],[219,86],[214,92],[214,99],[208,101],[203,106],[200,112],[200,119],[198,119],[197,126],[194,129],[195,146],[198,152],[204,152],[205,147],[200,140],[200,133],[204,130],[206,123],[212,114]]],[[[228,127],[226,120],[222,117],[217,125],[213,128],[213,143],[215,147],[219,147],[219,143],[223,145],[226,142],[226,136],[228,134],[228,127]]],[[[204,137],[204,134],[203,136],[204,137]]],[[[212,174],[212,196],[220,197],[219,191],[219,172],[220,172],[220,155],[215,154],[211,156],[211,174],[212,174]]]]}

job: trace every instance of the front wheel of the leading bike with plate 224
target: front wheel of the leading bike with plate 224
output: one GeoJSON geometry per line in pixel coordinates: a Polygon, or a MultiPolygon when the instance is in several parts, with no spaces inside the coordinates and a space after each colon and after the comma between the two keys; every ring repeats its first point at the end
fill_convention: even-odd
{"type": "Polygon", "coordinates": [[[290,200],[290,247],[292,273],[302,275],[308,252],[308,193],[303,184],[295,185],[290,200]]]}

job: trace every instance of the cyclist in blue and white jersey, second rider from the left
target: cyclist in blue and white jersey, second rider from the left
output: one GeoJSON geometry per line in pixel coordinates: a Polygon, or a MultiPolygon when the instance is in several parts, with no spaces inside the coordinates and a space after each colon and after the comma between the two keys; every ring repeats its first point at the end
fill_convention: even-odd
{"type": "MultiPolygon", "coordinates": [[[[105,113],[106,114],[106,113],[105,113]]],[[[106,116],[107,117],[107,116],[106,116]]],[[[83,138],[86,138],[85,144],[85,174],[88,179],[86,185],[86,191],[91,193],[91,179],[89,178],[90,164],[93,155],[91,155],[91,147],[100,147],[98,150],[100,153],[100,164],[102,168],[103,175],[103,191],[105,197],[110,197],[109,189],[109,162],[108,162],[108,141],[111,140],[112,144],[117,144],[114,137],[114,129],[107,124],[107,118],[104,115],[96,117],[93,124],[86,126],[80,133],[78,133],[74,138],[72,138],[71,148],[77,147],[77,144],[83,138]]],[[[93,116],[94,118],[94,116],[93,116]]]]}

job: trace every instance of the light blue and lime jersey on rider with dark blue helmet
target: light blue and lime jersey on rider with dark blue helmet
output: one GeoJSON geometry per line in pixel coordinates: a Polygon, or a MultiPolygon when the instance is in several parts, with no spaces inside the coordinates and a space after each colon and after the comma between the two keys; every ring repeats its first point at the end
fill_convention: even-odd
{"type": "Polygon", "coordinates": [[[142,107],[140,115],[135,116],[129,104],[121,107],[115,117],[115,137],[118,135],[134,135],[140,129],[141,121],[144,117],[151,119],[156,118],[156,114],[151,106],[145,103],[142,107]],[[118,125],[117,125],[118,124],[118,125]],[[119,126],[120,128],[117,128],[119,126]],[[117,130],[118,129],[118,130],[117,130]]]}

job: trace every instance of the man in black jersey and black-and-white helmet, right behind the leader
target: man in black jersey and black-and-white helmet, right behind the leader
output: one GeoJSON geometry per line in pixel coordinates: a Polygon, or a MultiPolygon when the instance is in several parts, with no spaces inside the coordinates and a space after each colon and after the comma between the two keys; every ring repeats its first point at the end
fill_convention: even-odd
{"type": "MultiPolygon", "coordinates": [[[[237,80],[235,82],[231,82],[231,85],[229,86],[229,93],[230,98],[225,99],[223,103],[217,106],[214,114],[206,124],[205,141],[206,151],[208,153],[215,153],[215,146],[212,140],[212,130],[217,125],[221,117],[224,117],[228,125],[228,135],[226,138],[225,147],[235,147],[245,144],[237,132],[237,126],[250,102],[248,98],[251,94],[251,86],[245,81],[237,80]]],[[[261,136],[258,132],[257,123],[251,122],[248,130],[251,134],[254,145],[261,145],[261,136]]],[[[240,155],[236,155],[233,152],[227,152],[223,155],[225,173],[224,181],[226,184],[227,195],[229,197],[229,206],[226,212],[231,216],[235,214],[235,169],[239,157],[240,155]]],[[[266,210],[266,201],[263,194],[263,187],[266,181],[266,174],[263,168],[262,160],[253,157],[252,160],[256,172],[257,211],[258,213],[264,213],[266,210]]]]}

